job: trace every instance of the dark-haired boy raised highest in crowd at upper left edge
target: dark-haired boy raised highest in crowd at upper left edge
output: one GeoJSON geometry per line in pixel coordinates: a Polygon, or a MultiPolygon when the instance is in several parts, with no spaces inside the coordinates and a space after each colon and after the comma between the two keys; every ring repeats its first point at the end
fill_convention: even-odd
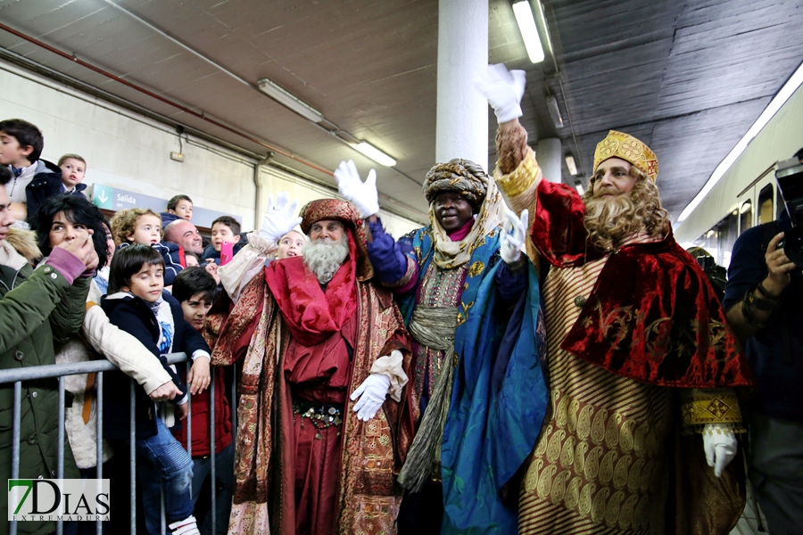
{"type": "Polygon", "coordinates": [[[33,218],[37,213],[37,206],[28,206],[28,186],[34,179],[61,182],[62,169],[39,158],[44,148],[42,132],[28,121],[0,121],[0,164],[7,165],[14,176],[6,190],[11,199],[9,211],[17,221],[33,218]]]}

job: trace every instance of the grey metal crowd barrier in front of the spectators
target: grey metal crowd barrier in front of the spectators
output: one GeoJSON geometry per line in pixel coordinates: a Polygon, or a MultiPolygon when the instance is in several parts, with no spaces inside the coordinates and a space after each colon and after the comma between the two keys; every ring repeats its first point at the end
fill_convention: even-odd
{"type": "MultiPolygon", "coordinates": [[[[189,374],[192,362],[186,357],[184,353],[170,353],[165,355],[169,364],[186,363],[186,373],[189,374]]],[[[65,416],[65,403],[64,403],[64,377],[67,375],[76,374],[91,374],[95,373],[95,403],[96,403],[96,420],[97,420],[97,439],[95,441],[95,448],[97,453],[97,466],[96,466],[96,479],[103,479],[103,374],[105,372],[119,373],[120,369],[114,366],[111,362],[105,359],[91,360],[87,362],[75,362],[68,364],[54,364],[49,366],[29,366],[16,369],[0,370],[0,384],[14,383],[14,407],[13,407],[13,427],[12,427],[12,473],[11,479],[20,478],[20,432],[21,432],[21,401],[22,401],[22,383],[25,381],[34,381],[37,379],[58,378],[59,380],[59,431],[58,431],[58,465],[56,469],[56,478],[63,479],[64,476],[64,416],[65,416]]],[[[231,432],[232,432],[232,447],[234,447],[234,437],[236,435],[236,369],[235,380],[232,381],[231,391],[231,432]]],[[[135,440],[136,440],[136,424],[135,424],[135,391],[140,387],[134,379],[130,379],[130,412],[129,412],[129,457],[130,457],[130,529],[131,535],[137,535],[137,456],[135,455],[135,440]]],[[[211,376],[209,385],[210,390],[210,430],[211,430],[211,532],[216,533],[217,523],[224,522],[228,524],[228,518],[218,519],[216,511],[216,490],[217,483],[215,480],[216,463],[215,463],[215,381],[214,375],[211,376]]],[[[186,424],[186,451],[190,457],[193,455],[192,451],[192,405],[190,404],[192,396],[188,393],[189,386],[187,385],[187,395],[190,397],[187,400],[188,413],[184,423],[186,424]]],[[[190,492],[192,493],[192,481],[190,481],[190,492]]],[[[103,521],[96,523],[97,535],[102,535],[103,521]]],[[[165,534],[166,522],[164,516],[164,499],[161,500],[161,533],[165,534]]],[[[17,535],[17,522],[10,523],[10,535],[17,535]]],[[[61,520],[56,522],[56,534],[63,534],[63,522],[61,520]]]]}

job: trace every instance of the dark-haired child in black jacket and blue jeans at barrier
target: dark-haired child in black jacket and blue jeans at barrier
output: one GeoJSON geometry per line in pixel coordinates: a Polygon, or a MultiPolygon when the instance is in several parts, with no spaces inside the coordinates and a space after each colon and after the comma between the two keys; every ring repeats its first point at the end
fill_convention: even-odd
{"type": "MultiPolygon", "coordinates": [[[[194,364],[187,377],[190,391],[203,391],[210,381],[209,346],[184,319],[181,305],[164,290],[164,261],[151,247],[135,243],[114,254],[109,274],[109,295],[101,306],[113,325],[132,334],[170,373],[182,391],[174,403],[186,417],[186,387],[161,355],[184,351],[194,364]]],[[[103,432],[105,438],[128,438],[128,378],[107,374],[103,382],[103,432]]],[[[157,415],[153,402],[141,389],[135,391],[137,488],[142,490],[145,526],[160,532],[160,497],[171,533],[198,535],[189,490],[193,462],[157,415]]],[[[169,412],[169,411],[168,411],[169,412]]],[[[167,415],[168,417],[170,415],[167,415]]]]}

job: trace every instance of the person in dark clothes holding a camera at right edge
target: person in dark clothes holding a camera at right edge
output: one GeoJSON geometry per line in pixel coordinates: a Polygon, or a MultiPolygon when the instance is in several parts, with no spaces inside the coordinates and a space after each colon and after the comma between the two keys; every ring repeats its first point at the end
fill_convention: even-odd
{"type": "Polygon", "coordinates": [[[757,383],[748,477],[774,535],[803,533],[803,276],[782,246],[790,230],[784,211],[739,236],[723,300],[757,383]]]}

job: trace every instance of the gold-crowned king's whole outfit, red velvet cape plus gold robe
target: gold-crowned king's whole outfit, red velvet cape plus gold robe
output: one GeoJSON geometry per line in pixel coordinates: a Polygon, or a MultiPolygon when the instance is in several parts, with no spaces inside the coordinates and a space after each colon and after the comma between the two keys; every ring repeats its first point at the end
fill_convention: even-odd
{"type": "MultiPolygon", "coordinates": [[[[551,405],[522,483],[519,530],[727,533],[744,506],[741,457],[717,479],[700,435],[681,433],[682,419],[697,421],[678,410],[697,403],[678,403],[689,392],[713,407],[706,392],[752,383],[721,304],[671,234],[597,251],[574,188],[538,178],[530,150],[509,175],[497,172],[513,209],[531,211],[528,250],[551,270],[593,275],[569,276],[587,290],[558,290],[579,293],[566,312],[546,310],[551,405]],[[550,324],[566,317],[576,319],[550,324]]],[[[551,275],[545,308],[567,301],[550,286],[566,277],[551,275]]]]}

